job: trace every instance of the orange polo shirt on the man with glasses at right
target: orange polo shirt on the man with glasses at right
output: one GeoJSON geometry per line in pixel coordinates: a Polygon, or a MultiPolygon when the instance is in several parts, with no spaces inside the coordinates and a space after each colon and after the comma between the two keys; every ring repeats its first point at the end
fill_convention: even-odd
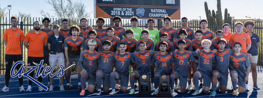
{"type": "MultiPolygon", "coordinates": [[[[249,37],[248,34],[246,34],[245,32],[242,32],[240,34],[238,34],[237,32],[232,34],[229,38],[229,45],[234,45],[235,42],[239,42],[242,46],[241,46],[241,51],[243,52],[246,52],[247,53],[247,50],[246,50],[246,45],[247,44],[251,44],[251,39],[249,37]]],[[[232,48],[234,49],[234,47],[232,48]]]]}

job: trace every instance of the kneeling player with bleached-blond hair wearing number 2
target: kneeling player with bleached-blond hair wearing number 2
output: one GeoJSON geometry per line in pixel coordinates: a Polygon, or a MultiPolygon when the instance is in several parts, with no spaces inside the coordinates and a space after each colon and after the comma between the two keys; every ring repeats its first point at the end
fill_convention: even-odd
{"type": "MultiPolygon", "coordinates": [[[[86,79],[88,79],[89,84],[88,89],[89,93],[93,93],[95,89],[95,80],[96,80],[96,67],[100,62],[100,55],[95,51],[96,41],[91,39],[88,41],[89,50],[84,51],[80,55],[79,67],[81,71],[81,86],[85,86],[86,79]]],[[[84,87],[81,88],[80,96],[84,96],[85,90],[84,87]]]]}

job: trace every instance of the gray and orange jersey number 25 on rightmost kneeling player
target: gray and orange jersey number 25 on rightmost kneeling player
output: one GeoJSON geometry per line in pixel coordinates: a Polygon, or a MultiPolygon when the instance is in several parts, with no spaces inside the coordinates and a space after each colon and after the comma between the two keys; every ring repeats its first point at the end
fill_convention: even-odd
{"type": "Polygon", "coordinates": [[[249,66],[251,66],[251,64],[246,54],[241,53],[240,55],[235,55],[232,53],[230,55],[229,68],[231,70],[236,70],[242,78],[246,77],[246,67],[249,66]]]}

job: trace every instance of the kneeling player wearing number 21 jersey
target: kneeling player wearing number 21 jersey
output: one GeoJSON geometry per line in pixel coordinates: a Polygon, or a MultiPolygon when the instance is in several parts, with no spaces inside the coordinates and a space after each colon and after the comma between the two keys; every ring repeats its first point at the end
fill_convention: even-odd
{"type": "MultiPolygon", "coordinates": [[[[107,28],[108,30],[109,28],[107,28]]],[[[112,42],[109,40],[105,40],[102,43],[103,51],[100,51],[100,60],[99,65],[96,72],[96,82],[97,82],[97,88],[98,92],[96,93],[97,96],[100,96],[101,94],[101,79],[103,79],[103,92],[108,93],[109,87],[110,87],[110,73],[112,72],[112,66],[113,66],[113,57],[115,55],[114,52],[110,51],[110,47],[112,45],[112,42]]]]}

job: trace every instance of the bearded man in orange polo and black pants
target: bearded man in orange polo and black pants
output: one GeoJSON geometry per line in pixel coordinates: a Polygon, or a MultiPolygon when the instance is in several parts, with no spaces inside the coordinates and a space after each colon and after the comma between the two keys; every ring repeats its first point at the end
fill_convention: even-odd
{"type": "MultiPolygon", "coordinates": [[[[48,42],[48,36],[45,32],[40,31],[40,22],[35,21],[34,22],[34,30],[33,33],[27,33],[25,40],[24,40],[24,46],[28,49],[28,55],[27,55],[27,66],[36,66],[33,64],[33,61],[35,63],[40,63],[41,60],[44,60],[44,48],[47,47],[48,42]],[[29,44],[29,45],[28,45],[29,44]]],[[[34,72],[29,73],[31,77],[33,77],[34,72]]],[[[42,82],[42,77],[38,77],[38,81],[42,82]]],[[[28,87],[27,92],[31,92],[32,90],[32,81],[28,80],[28,87]]],[[[41,87],[38,87],[39,91],[44,91],[41,87]]]]}

